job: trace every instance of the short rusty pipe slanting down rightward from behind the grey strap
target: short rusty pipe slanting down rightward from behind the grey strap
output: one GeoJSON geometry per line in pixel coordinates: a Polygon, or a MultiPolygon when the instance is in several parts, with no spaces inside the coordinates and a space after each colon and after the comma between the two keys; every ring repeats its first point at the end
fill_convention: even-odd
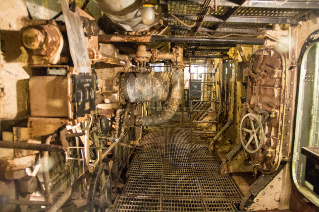
{"type": "Polygon", "coordinates": [[[87,51],[89,53],[90,59],[93,59],[99,62],[105,62],[108,64],[117,65],[117,66],[122,66],[122,67],[126,67],[126,66],[134,67],[134,65],[132,65],[132,63],[130,63],[129,61],[121,60],[111,55],[101,53],[93,48],[88,48],[87,51]]]}

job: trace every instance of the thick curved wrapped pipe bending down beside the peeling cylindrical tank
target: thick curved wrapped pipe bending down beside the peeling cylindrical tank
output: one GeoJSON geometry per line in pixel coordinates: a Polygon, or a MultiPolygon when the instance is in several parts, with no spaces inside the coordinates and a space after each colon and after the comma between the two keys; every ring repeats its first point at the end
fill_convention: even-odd
{"type": "Polygon", "coordinates": [[[137,126],[150,126],[156,124],[162,124],[171,119],[179,104],[182,100],[182,94],[184,90],[184,73],[183,72],[173,72],[172,77],[172,91],[171,91],[171,100],[168,103],[167,108],[162,111],[159,115],[151,115],[151,116],[141,116],[137,115],[135,118],[135,124],[137,126]]]}

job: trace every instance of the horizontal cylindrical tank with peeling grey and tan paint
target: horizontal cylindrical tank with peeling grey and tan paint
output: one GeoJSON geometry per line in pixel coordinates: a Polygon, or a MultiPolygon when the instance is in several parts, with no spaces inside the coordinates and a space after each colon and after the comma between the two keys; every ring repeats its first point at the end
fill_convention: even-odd
{"type": "Polygon", "coordinates": [[[123,95],[128,102],[167,100],[172,72],[130,72],[124,75],[123,95]]]}

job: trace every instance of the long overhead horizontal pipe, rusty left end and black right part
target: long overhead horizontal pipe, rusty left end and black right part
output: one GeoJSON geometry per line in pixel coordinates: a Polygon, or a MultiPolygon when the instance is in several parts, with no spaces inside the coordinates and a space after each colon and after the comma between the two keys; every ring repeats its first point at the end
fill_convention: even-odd
{"type": "Polygon", "coordinates": [[[174,35],[99,35],[99,42],[173,42],[173,43],[207,43],[207,44],[242,44],[264,45],[266,40],[261,38],[222,38],[207,39],[195,36],[179,37],[174,35]]]}

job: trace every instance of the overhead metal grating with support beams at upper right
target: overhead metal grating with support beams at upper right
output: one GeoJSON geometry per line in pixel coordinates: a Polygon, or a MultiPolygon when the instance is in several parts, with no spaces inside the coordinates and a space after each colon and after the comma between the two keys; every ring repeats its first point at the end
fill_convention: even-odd
{"type": "MultiPolygon", "coordinates": [[[[319,2],[316,0],[218,0],[217,5],[215,1],[209,1],[207,13],[201,14],[206,11],[206,2],[207,0],[159,0],[164,24],[171,27],[172,35],[177,36],[188,36],[191,32],[192,36],[204,38],[208,38],[208,33],[213,36],[212,39],[225,36],[249,38],[263,34],[267,25],[297,25],[306,14],[316,13],[319,9],[319,2]],[[199,16],[202,17],[200,20],[199,16]]],[[[191,56],[207,58],[211,55],[185,56],[188,60],[191,56]]]]}

